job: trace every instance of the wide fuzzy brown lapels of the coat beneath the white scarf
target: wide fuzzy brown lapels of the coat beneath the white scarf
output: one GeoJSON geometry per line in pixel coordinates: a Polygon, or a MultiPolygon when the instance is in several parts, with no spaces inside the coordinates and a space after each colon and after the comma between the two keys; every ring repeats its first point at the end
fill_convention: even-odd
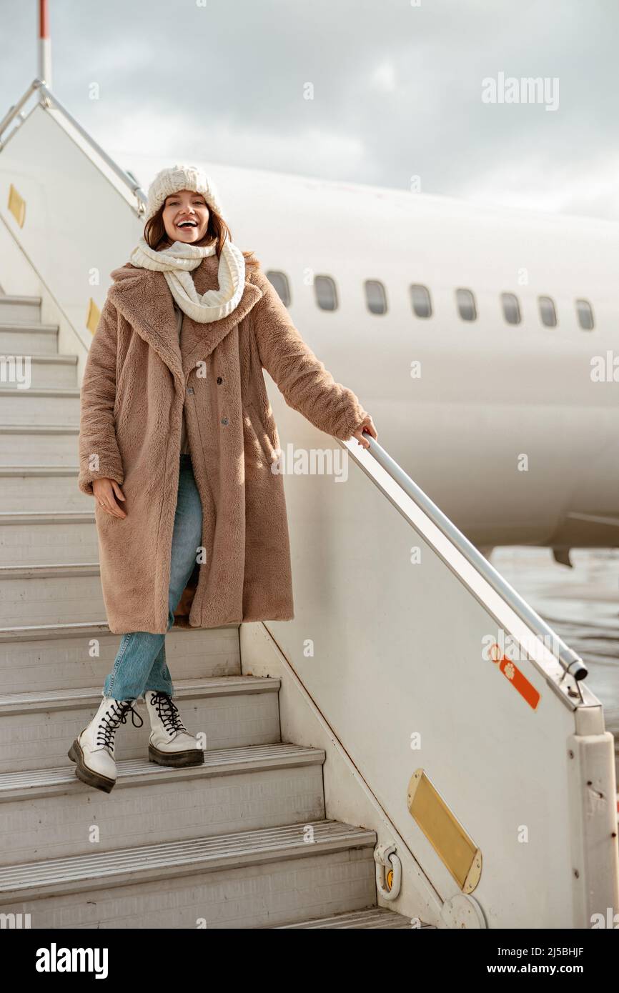
{"type": "MultiPolygon", "coordinates": [[[[208,255],[193,270],[198,293],[217,289],[218,266],[217,255],[208,255]]],[[[201,324],[184,314],[181,345],[174,302],[163,272],[128,263],[115,269],[112,276],[114,282],[108,290],[111,303],[154,349],[183,387],[190,370],[211,355],[262,296],[262,290],[249,282],[245,273],[242,296],[228,317],[211,324],[201,324]]]]}

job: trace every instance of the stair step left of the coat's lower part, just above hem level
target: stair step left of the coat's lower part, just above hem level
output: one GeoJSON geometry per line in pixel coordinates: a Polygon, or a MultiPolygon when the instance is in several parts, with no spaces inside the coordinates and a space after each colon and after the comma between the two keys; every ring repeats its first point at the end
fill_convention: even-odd
{"type": "Polygon", "coordinates": [[[98,562],[0,566],[0,626],[105,617],[98,562]]]}

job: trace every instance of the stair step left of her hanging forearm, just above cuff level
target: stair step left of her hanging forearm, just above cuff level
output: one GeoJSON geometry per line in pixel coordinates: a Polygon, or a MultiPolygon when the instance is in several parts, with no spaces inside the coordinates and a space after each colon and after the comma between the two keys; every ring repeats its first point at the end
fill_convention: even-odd
{"type": "MultiPolygon", "coordinates": [[[[22,410],[22,413],[24,411],[22,410]]],[[[78,424],[36,424],[0,419],[0,461],[3,466],[77,467],[78,424]]]]}

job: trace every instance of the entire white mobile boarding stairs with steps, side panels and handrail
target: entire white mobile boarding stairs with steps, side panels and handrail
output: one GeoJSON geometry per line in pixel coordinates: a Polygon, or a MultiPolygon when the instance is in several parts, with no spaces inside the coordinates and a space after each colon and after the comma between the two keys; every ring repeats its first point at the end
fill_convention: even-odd
{"type": "MultiPolygon", "coordinates": [[[[118,645],[77,489],[79,375],[143,210],[35,80],[0,121],[0,927],[609,926],[614,743],[586,660],[386,448],[321,434],[270,380],[283,446],[343,470],[286,475],[294,620],[173,629],[204,766],[149,764],[140,704],[111,793],[77,780],[118,645]]],[[[384,398],[362,399],[387,440],[384,398]]]]}

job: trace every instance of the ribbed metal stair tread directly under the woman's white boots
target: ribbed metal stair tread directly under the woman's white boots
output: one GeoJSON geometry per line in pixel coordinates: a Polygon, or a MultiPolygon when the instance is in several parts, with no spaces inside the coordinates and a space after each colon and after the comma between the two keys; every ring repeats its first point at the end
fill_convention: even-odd
{"type": "MultiPolygon", "coordinates": [[[[147,759],[126,759],[116,762],[118,781],[114,786],[117,789],[123,780],[130,784],[130,780],[138,778],[178,778],[182,772],[183,778],[206,776],[214,770],[230,769],[231,771],[240,767],[260,767],[271,765],[290,765],[302,762],[303,765],[320,763],[325,761],[325,751],[311,746],[294,745],[292,742],[275,742],[270,745],[241,745],[237,748],[213,749],[205,752],[204,765],[188,766],[184,770],[171,769],[167,766],[158,766],[147,759]]],[[[26,793],[26,798],[31,792],[39,793],[47,787],[60,785],[76,785],[82,787],[82,783],[77,780],[75,766],[72,763],[56,769],[35,769],[17,773],[0,774],[0,800],[6,800],[10,793],[20,790],[26,793]]],[[[86,786],[86,789],[88,787],[86,786]]]]}

